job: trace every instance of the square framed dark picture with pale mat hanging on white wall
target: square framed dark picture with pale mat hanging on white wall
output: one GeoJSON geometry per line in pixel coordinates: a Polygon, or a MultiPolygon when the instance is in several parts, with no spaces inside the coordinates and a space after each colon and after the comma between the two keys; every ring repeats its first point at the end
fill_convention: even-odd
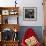
{"type": "Polygon", "coordinates": [[[23,8],[24,20],[37,20],[37,8],[36,7],[24,7],[23,8]]]}

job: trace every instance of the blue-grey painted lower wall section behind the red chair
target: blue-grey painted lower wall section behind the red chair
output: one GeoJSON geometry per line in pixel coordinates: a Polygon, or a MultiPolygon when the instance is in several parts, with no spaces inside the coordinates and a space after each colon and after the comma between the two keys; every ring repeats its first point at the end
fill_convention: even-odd
{"type": "Polygon", "coordinates": [[[42,36],[42,26],[21,26],[20,27],[20,31],[19,31],[19,39],[20,39],[20,42],[24,36],[24,33],[25,31],[28,29],[28,28],[32,28],[36,34],[37,34],[37,37],[39,39],[39,41],[42,43],[43,42],[43,36],[42,36]]]}

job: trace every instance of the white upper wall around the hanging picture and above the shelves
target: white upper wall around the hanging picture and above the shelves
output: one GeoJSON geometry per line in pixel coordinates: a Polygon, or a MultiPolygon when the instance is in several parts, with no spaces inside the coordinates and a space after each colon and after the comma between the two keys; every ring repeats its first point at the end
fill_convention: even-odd
{"type": "MultiPolygon", "coordinates": [[[[15,6],[15,0],[0,0],[1,7],[15,6]]],[[[43,6],[42,0],[17,0],[19,6],[19,24],[20,26],[43,26],[43,6]],[[37,8],[37,21],[24,21],[23,20],[23,7],[36,7],[37,8]]]]}

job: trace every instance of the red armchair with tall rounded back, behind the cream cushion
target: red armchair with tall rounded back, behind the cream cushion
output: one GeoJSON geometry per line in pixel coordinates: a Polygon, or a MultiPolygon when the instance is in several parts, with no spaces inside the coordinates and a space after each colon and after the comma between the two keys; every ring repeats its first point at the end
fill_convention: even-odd
{"type": "MultiPolygon", "coordinates": [[[[33,36],[34,38],[37,37],[37,35],[36,35],[36,33],[33,31],[33,29],[31,29],[31,28],[27,29],[26,32],[25,32],[24,37],[22,38],[21,46],[27,46],[28,42],[27,42],[27,44],[26,44],[25,40],[26,40],[26,39],[29,40],[29,38],[32,38],[32,36],[33,36]]],[[[29,46],[31,46],[31,45],[29,45],[29,46]]],[[[41,44],[40,44],[40,42],[37,40],[37,38],[36,38],[36,44],[35,44],[34,46],[41,46],[41,44]]]]}

